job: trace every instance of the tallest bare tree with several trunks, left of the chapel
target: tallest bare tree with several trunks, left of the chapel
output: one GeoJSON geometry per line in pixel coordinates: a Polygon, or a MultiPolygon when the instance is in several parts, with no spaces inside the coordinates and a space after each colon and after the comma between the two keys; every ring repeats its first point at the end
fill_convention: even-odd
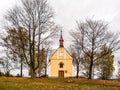
{"type": "Polygon", "coordinates": [[[40,63],[41,44],[48,38],[52,38],[57,33],[58,26],[52,18],[53,9],[48,5],[47,0],[22,0],[22,6],[15,6],[10,9],[5,16],[7,25],[5,28],[22,27],[28,34],[28,49],[21,39],[22,53],[26,64],[31,70],[31,77],[35,77],[35,71],[40,63]],[[38,54],[35,57],[36,53],[38,54]]]}

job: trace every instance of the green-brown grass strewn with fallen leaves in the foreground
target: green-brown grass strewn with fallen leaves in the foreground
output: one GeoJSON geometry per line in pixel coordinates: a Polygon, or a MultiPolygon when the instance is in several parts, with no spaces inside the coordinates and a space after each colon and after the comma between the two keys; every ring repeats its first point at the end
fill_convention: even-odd
{"type": "Polygon", "coordinates": [[[117,80],[0,77],[0,90],[120,90],[117,80]]]}

